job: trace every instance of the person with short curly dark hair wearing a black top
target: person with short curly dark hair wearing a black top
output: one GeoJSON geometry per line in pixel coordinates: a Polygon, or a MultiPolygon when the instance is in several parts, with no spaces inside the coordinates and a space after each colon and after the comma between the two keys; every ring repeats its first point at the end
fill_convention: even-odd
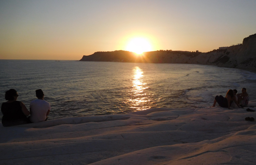
{"type": "Polygon", "coordinates": [[[18,93],[14,89],[5,92],[6,102],[2,103],[1,111],[3,114],[2,124],[4,127],[29,123],[27,118],[30,112],[21,101],[17,101],[18,93]]]}

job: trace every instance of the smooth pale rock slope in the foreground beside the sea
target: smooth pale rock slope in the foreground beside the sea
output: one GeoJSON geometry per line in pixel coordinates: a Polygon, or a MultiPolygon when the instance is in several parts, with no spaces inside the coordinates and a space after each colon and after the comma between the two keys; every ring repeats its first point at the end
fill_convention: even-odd
{"type": "Polygon", "coordinates": [[[254,165],[256,121],[246,117],[256,112],[155,108],[1,125],[0,164],[254,165]]]}

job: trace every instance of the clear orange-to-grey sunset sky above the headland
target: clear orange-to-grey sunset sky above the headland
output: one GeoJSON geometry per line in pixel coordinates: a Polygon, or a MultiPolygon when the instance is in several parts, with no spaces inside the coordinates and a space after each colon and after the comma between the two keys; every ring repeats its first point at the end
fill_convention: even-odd
{"type": "Polygon", "coordinates": [[[255,9],[256,0],[0,0],[0,59],[79,60],[131,51],[135,38],[145,51],[208,52],[255,34],[255,9]]]}

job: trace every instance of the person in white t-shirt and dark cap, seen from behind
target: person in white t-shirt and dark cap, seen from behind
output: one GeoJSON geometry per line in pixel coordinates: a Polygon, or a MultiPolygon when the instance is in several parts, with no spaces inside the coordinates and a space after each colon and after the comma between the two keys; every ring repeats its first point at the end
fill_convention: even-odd
{"type": "Polygon", "coordinates": [[[42,122],[47,120],[47,116],[50,113],[51,105],[44,100],[44,93],[41,89],[36,90],[36,97],[38,99],[31,101],[30,109],[30,121],[32,123],[42,122]]]}

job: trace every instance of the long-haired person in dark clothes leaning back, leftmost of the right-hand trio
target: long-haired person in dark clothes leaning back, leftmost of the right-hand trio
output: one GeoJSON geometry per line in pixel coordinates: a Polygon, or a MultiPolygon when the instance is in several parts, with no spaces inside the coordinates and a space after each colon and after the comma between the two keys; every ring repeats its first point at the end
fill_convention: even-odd
{"type": "Polygon", "coordinates": [[[216,102],[218,102],[218,104],[223,107],[223,108],[230,108],[230,105],[232,104],[232,102],[235,101],[237,107],[240,108],[238,102],[235,100],[235,96],[233,94],[233,90],[229,90],[227,91],[226,93],[226,97],[223,97],[223,96],[216,96],[215,99],[214,99],[214,102],[213,102],[213,106],[212,107],[215,107],[216,105],[216,102]]]}

